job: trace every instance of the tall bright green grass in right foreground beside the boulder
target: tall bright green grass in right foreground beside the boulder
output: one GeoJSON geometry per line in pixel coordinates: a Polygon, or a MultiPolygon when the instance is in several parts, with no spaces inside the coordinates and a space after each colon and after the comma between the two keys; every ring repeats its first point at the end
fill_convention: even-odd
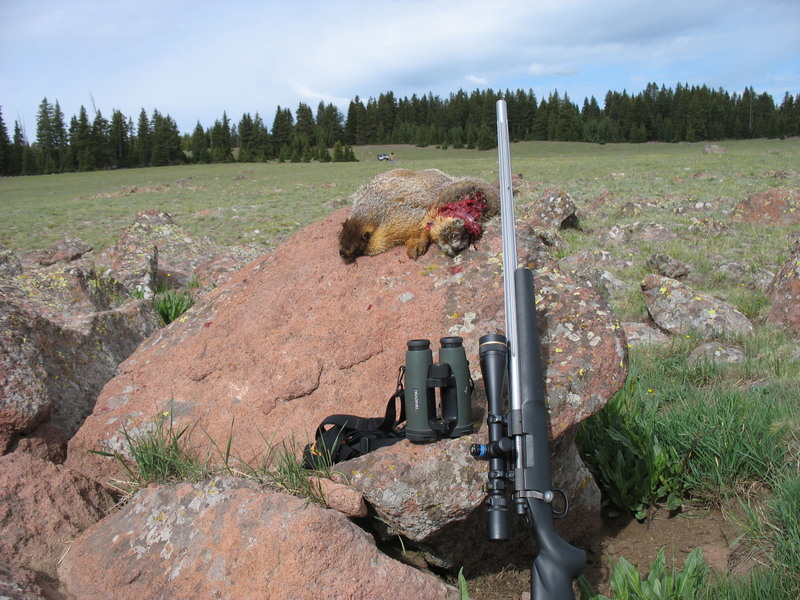
{"type": "Polygon", "coordinates": [[[691,336],[632,349],[625,386],[582,423],[578,443],[615,511],[644,519],[656,507],[676,510],[689,501],[742,504],[745,540],[767,557],[767,568],[744,579],[698,580],[692,596],[662,596],[642,591],[632,567],[619,561],[612,584],[624,580],[634,591],[615,590],[617,600],[778,600],[800,593],[800,361],[792,357],[797,346],[764,324],[727,341],[744,349],[744,362],[690,363],[699,343],[691,336]],[[767,490],[766,499],[753,490],[767,490]]]}

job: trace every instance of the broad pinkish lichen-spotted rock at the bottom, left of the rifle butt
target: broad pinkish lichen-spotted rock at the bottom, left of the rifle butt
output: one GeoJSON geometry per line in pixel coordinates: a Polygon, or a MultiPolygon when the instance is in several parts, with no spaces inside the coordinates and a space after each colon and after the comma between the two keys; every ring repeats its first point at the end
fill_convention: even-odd
{"type": "Polygon", "coordinates": [[[142,490],[58,572],[76,600],[458,598],[341,513],[237,478],[142,490]]]}

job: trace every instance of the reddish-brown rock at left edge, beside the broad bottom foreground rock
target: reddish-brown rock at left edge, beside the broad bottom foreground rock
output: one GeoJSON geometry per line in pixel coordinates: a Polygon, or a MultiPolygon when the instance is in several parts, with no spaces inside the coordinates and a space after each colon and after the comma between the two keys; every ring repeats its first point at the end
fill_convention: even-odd
{"type": "Polygon", "coordinates": [[[0,456],[0,560],[54,577],[69,543],[113,506],[102,486],[62,465],[0,456]]]}

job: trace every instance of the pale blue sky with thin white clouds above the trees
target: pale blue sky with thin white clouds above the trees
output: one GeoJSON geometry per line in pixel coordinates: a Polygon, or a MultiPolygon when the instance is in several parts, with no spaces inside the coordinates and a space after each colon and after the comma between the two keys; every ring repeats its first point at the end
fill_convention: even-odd
{"type": "Polygon", "coordinates": [[[29,141],[44,98],[182,133],[277,107],[343,115],[432,92],[557,90],[579,106],[648,83],[800,94],[798,0],[0,0],[0,110],[29,141]]]}

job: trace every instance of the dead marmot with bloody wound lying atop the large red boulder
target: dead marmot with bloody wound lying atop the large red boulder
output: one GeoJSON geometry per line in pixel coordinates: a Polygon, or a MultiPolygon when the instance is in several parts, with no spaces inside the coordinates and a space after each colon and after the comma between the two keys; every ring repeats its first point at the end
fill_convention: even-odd
{"type": "Polygon", "coordinates": [[[377,175],[353,195],[342,223],[339,256],[351,264],[405,244],[417,259],[431,242],[456,256],[477,240],[482,223],[499,214],[496,189],[478,179],[455,178],[438,169],[394,169],[377,175]]]}

